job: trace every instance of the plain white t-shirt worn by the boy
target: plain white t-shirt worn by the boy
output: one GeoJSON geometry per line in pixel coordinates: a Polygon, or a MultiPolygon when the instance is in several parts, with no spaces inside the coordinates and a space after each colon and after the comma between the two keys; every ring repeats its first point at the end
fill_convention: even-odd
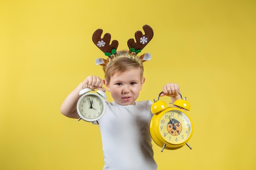
{"type": "Polygon", "coordinates": [[[156,170],[149,132],[151,101],[122,106],[106,101],[99,119],[105,166],[103,170],[156,170]]]}

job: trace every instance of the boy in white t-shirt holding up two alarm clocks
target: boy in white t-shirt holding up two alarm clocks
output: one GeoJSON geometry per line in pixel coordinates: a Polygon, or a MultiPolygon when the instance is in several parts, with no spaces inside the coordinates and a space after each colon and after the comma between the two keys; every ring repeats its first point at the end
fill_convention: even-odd
{"type": "MultiPolygon", "coordinates": [[[[61,106],[61,113],[79,119],[76,110],[81,97],[79,91],[85,86],[101,90],[104,84],[114,101],[110,103],[104,100],[105,113],[98,120],[105,161],[103,170],[156,170],[149,132],[153,116],[150,112],[152,102],[135,102],[145,82],[142,63],[130,57],[130,51],[117,53],[116,56],[104,68],[105,79],[98,76],[85,78],[67,96],[61,106]]],[[[180,99],[177,91],[180,91],[177,84],[166,84],[161,96],[170,96],[175,102],[180,99]]]]}

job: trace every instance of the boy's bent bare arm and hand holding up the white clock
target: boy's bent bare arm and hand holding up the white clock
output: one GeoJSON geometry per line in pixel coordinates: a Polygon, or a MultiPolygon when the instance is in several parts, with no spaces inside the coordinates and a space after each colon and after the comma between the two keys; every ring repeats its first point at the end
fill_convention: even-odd
{"type": "Polygon", "coordinates": [[[90,89],[101,89],[102,85],[103,80],[98,76],[88,76],[64,100],[61,105],[61,113],[67,117],[79,119],[80,117],[76,110],[76,104],[81,97],[79,92],[86,86],[90,89]]]}

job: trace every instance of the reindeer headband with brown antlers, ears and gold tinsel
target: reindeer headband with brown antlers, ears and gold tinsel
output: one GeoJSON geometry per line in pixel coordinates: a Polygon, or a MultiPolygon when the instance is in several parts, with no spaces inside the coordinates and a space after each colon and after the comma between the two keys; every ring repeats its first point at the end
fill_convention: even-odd
{"type": "Polygon", "coordinates": [[[108,65],[112,61],[116,60],[117,58],[129,57],[136,60],[141,65],[144,61],[150,60],[151,55],[149,53],[145,53],[141,56],[137,55],[153,38],[153,29],[150,26],[144,25],[143,30],[145,31],[145,35],[143,35],[141,31],[136,31],[135,33],[136,42],[134,41],[133,38],[128,40],[127,42],[129,47],[128,53],[117,54],[118,41],[113,40],[112,43],[110,44],[110,39],[111,39],[110,33],[106,33],[103,36],[103,38],[101,38],[103,30],[97,29],[92,35],[92,41],[99,49],[101,49],[101,51],[103,51],[103,53],[106,56],[109,57],[109,60],[98,58],[97,60],[95,60],[95,64],[104,66],[106,68],[105,69],[105,72],[106,72],[108,65]]]}

